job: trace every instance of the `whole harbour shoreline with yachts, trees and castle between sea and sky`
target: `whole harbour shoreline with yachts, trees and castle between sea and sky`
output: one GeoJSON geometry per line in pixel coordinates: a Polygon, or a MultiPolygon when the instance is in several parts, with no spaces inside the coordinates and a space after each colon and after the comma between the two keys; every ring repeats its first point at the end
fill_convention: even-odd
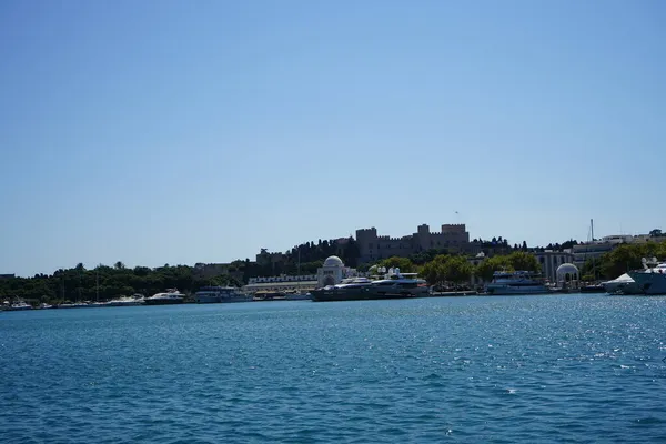
{"type": "Polygon", "coordinates": [[[309,242],[286,253],[262,249],[255,261],[229,264],[129,269],[119,261],[88,270],[79,263],[51,275],[0,275],[0,310],[666,293],[666,236],[660,230],[596,239],[591,221],[589,232],[587,242],[529,249],[525,243],[511,246],[502,238],[470,241],[465,224],[443,224],[436,233],[422,224],[401,238],[379,235],[374,228],[360,229],[355,239],[309,242]],[[443,249],[426,249],[435,244],[443,249]]]}

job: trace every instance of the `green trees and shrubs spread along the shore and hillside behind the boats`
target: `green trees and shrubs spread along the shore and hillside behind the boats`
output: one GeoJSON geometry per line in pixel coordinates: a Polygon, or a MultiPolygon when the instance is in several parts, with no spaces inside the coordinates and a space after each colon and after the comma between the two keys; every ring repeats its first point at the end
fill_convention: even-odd
{"type": "MultiPolygon", "coordinates": [[[[642,244],[622,244],[602,255],[596,261],[588,260],[582,279],[615,279],[635,269],[640,269],[642,258],[666,259],[666,240],[660,230],[653,230],[654,242],[642,244]]],[[[466,256],[447,254],[446,250],[428,250],[410,258],[390,258],[379,264],[386,268],[397,266],[402,272],[418,272],[431,284],[464,284],[472,274],[488,281],[497,270],[538,271],[536,258],[523,246],[508,246],[500,239],[481,241],[486,253],[492,255],[482,260],[478,265],[471,264],[466,256]]],[[[577,244],[568,241],[563,244],[548,245],[553,250],[577,244]],[[566,246],[565,246],[566,245],[566,246]]],[[[535,249],[541,250],[541,249],[535,249]]],[[[278,274],[314,274],[323,261],[330,255],[339,255],[345,265],[359,266],[366,271],[370,264],[359,264],[359,245],[353,238],[343,241],[306,242],[294,246],[291,251],[272,261],[272,254],[262,250],[258,262],[238,260],[230,264],[229,274],[203,278],[196,268],[189,265],[165,264],[155,269],[147,266],[125,268],[122,262],[113,266],[98,265],[92,270],[79,263],[73,269],[58,270],[53,274],[36,274],[33,278],[0,279],[0,297],[20,297],[32,303],[60,303],[64,301],[104,301],[119,295],[142,293],[151,295],[165,289],[175,287],[182,292],[194,292],[204,285],[242,285],[251,276],[271,276],[278,274]]]]}

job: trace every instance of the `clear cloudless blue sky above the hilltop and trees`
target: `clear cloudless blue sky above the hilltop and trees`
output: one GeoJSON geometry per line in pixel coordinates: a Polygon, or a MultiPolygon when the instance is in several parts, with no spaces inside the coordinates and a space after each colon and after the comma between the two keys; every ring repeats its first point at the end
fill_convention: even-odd
{"type": "Polygon", "coordinates": [[[0,273],[666,229],[665,22],[659,0],[3,1],[0,273]]]}

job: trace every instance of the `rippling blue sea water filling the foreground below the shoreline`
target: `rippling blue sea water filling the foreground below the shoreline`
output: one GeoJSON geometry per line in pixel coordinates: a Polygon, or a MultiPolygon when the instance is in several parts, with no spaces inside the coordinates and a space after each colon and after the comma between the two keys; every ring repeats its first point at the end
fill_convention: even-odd
{"type": "Polygon", "coordinates": [[[665,442],[666,297],[0,313],[2,443],[665,442]]]}

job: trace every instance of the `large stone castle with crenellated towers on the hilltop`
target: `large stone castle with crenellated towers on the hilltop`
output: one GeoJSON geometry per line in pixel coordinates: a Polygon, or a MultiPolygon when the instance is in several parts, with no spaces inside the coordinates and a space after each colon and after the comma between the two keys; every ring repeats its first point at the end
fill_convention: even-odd
{"type": "Polygon", "coordinates": [[[430,249],[453,251],[470,250],[470,233],[464,223],[444,224],[441,232],[431,233],[426,224],[418,225],[416,233],[402,238],[377,235],[377,229],[356,230],[360,262],[373,262],[391,256],[408,256],[430,249]]]}

